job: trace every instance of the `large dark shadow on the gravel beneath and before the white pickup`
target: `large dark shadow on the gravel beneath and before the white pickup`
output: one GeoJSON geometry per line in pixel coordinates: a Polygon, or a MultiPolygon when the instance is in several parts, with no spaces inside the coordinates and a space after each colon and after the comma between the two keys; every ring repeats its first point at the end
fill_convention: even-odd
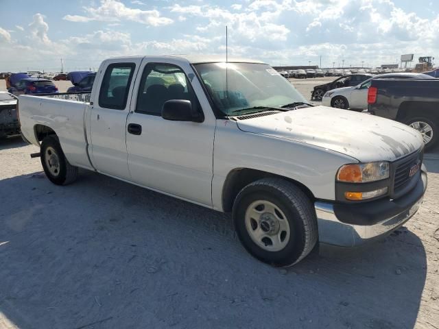
{"type": "MultiPolygon", "coordinates": [[[[96,173],[0,181],[0,316],[19,328],[414,328],[422,241],[276,269],[229,215],[96,173]],[[88,325],[88,327],[87,327],[88,325]],[[85,327],[84,327],[85,326],[85,327]]],[[[0,321],[1,324],[1,321],[0,321]]]]}

